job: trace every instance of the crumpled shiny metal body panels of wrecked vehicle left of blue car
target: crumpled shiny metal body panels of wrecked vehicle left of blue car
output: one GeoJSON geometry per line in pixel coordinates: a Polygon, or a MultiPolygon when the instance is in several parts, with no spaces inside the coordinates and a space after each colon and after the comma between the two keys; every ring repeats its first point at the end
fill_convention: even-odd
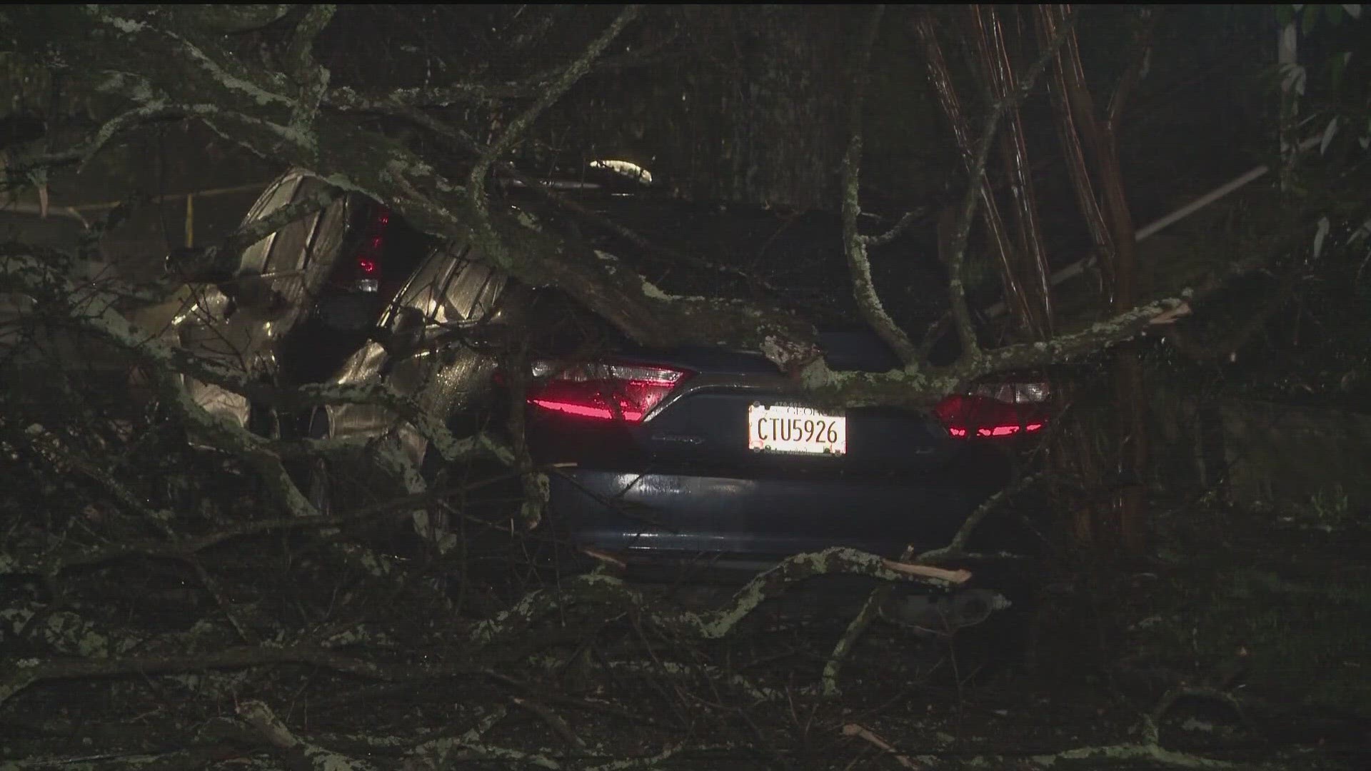
{"type": "MultiPolygon", "coordinates": [[[[307,173],[287,173],[263,191],[243,224],[322,188],[322,180],[307,173]]],[[[444,342],[439,355],[428,343],[488,321],[505,288],[503,274],[470,259],[461,244],[411,239],[422,244],[420,268],[407,272],[393,298],[332,292],[325,284],[350,239],[350,222],[365,206],[365,199],[341,196],[245,248],[225,289],[204,287],[180,314],[174,324],[180,343],[250,377],[288,384],[384,380],[440,414],[484,394],[494,369],[489,357],[454,342],[444,342]],[[377,329],[389,331],[392,339],[413,337],[404,355],[372,339],[377,329]],[[308,366],[302,365],[306,361],[308,366]]],[[[193,379],[186,387],[204,409],[248,424],[252,409],[244,396],[193,379]]],[[[424,439],[389,410],[367,405],[321,410],[308,418],[308,432],[358,439],[395,432],[410,460],[422,461],[424,439]]]]}

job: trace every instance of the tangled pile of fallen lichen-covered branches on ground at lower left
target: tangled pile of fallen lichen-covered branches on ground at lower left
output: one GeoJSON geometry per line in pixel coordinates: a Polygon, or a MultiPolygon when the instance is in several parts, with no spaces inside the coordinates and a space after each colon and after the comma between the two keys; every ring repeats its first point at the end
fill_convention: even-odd
{"type": "MultiPolygon", "coordinates": [[[[470,514],[491,486],[474,464],[443,487],[321,514],[288,468],[339,447],[208,416],[177,376],[226,375],[140,333],[117,284],[66,278],[58,254],[22,257],[5,262],[34,303],[5,320],[7,370],[25,375],[0,410],[0,722],[23,738],[5,742],[4,767],[635,768],[733,752],[914,763],[872,727],[877,707],[954,671],[956,649],[925,641],[921,661],[917,641],[868,628],[886,590],[818,619],[776,600],[834,573],[960,586],[965,571],[936,564],[1001,497],[939,553],[798,554],[703,601],[628,582],[613,560],[566,569],[543,530],[511,527],[517,475],[503,516],[470,514]],[[413,531],[415,509],[446,514],[452,542],[396,553],[367,539],[376,525],[413,531]]],[[[420,428],[436,446],[476,444],[420,428]]],[[[384,449],[352,450],[385,471],[384,449]]]]}

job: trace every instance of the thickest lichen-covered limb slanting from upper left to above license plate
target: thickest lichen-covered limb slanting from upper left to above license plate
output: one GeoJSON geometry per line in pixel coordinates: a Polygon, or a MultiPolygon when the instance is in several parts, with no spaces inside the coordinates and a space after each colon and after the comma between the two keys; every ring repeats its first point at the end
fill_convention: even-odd
{"type": "MultiPolygon", "coordinates": [[[[633,12],[621,14],[587,55],[563,73],[554,91],[569,88],[633,12]]],[[[125,26],[128,29],[118,34],[129,41],[160,45],[159,41],[167,40],[148,32],[141,22],[125,26]]],[[[239,69],[236,64],[218,69],[206,64],[186,70],[185,82],[165,84],[195,96],[195,104],[184,104],[174,112],[204,119],[225,139],[273,162],[313,170],[347,192],[385,200],[413,225],[439,237],[470,239],[474,232],[491,262],[526,284],[562,288],[642,344],[661,347],[690,340],[757,350],[764,348],[768,339],[784,340],[768,350],[776,351],[773,361],[791,372],[818,357],[812,327],[787,314],[732,300],[672,298],[624,265],[606,263],[588,250],[577,251],[565,239],[529,230],[518,222],[502,222],[507,229],[496,233],[484,209],[484,195],[470,195],[472,191],[451,184],[422,158],[385,137],[369,133],[367,141],[359,143],[355,126],[315,122],[308,130],[298,130],[259,118],[258,112],[274,110],[281,102],[260,96],[254,103],[251,89],[218,74],[239,69]],[[222,99],[217,104],[200,103],[204,95],[222,99]],[[223,121],[233,121],[233,126],[221,128],[223,121]]],[[[130,100],[147,97],[147,89],[136,85],[125,84],[115,93],[130,100]]],[[[555,95],[550,92],[551,96],[555,95]]],[[[536,111],[537,106],[525,111],[520,123],[526,126],[536,111]]],[[[506,130],[495,147],[487,148],[481,163],[494,163],[495,155],[489,151],[513,141],[517,141],[515,134],[506,130]]]]}

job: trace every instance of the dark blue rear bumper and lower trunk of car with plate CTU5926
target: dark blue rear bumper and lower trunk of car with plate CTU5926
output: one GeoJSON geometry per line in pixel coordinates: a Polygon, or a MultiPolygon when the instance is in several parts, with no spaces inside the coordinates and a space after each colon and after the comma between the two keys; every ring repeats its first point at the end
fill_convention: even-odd
{"type": "Polygon", "coordinates": [[[725,375],[680,391],[640,424],[529,416],[529,447],[555,468],[554,527],[570,542],[616,553],[851,546],[898,556],[946,545],[1017,473],[1004,447],[951,439],[927,412],[901,407],[843,410],[842,457],[761,453],[747,449],[747,406],[805,405],[797,391],[725,375]]]}

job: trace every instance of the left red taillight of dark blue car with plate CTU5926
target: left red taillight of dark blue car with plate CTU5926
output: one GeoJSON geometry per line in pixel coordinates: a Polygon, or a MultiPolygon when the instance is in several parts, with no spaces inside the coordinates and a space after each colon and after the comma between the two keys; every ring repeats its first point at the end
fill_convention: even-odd
{"type": "Polygon", "coordinates": [[[665,366],[535,362],[528,403],[596,420],[642,423],[690,372],[665,366]]]}

